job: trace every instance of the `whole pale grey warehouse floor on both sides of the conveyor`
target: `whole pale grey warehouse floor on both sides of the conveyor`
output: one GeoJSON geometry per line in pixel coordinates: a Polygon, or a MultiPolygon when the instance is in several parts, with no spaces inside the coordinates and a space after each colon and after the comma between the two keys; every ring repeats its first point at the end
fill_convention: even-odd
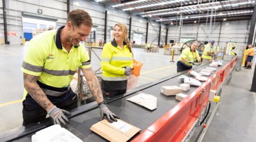
{"type": "MultiPolygon", "coordinates": [[[[22,124],[23,76],[20,67],[25,51],[23,45],[0,45],[0,133],[22,124]]],[[[137,61],[144,63],[137,86],[176,73],[176,62],[170,62],[171,56],[164,55],[163,49],[159,53],[146,53],[144,49],[134,48],[133,53],[137,61]]],[[[174,61],[178,57],[175,55],[174,61]]],[[[253,71],[235,71],[231,85],[224,86],[219,115],[213,118],[205,142],[256,140],[253,135],[256,130],[256,94],[248,91],[253,71]]]]}

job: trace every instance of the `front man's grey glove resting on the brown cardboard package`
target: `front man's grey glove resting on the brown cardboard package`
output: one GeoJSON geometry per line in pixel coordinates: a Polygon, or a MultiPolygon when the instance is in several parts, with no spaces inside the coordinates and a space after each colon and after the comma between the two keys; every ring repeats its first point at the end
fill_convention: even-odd
{"type": "Polygon", "coordinates": [[[99,107],[100,107],[100,112],[101,112],[100,121],[104,119],[104,116],[107,117],[107,119],[108,119],[108,121],[109,121],[110,123],[112,123],[113,121],[117,122],[117,119],[115,119],[115,118],[118,118],[118,119],[120,118],[119,116],[113,114],[113,113],[109,110],[109,108],[107,107],[107,105],[102,104],[102,105],[99,106],[99,107]]]}

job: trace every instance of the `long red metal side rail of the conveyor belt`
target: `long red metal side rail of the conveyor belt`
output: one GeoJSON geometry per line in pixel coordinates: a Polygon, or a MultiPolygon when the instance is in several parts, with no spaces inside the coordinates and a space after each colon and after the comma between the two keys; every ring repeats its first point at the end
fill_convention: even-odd
{"type": "Polygon", "coordinates": [[[210,89],[218,90],[238,58],[226,64],[209,80],[184,98],[178,105],[161,116],[154,124],[140,133],[132,142],[181,142],[197,122],[208,103],[210,89]]]}

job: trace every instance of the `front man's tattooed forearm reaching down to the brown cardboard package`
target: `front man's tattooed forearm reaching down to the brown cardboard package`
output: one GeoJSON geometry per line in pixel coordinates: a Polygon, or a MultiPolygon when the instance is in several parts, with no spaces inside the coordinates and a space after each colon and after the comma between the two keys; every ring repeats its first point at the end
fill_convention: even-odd
{"type": "Polygon", "coordinates": [[[92,68],[82,69],[82,72],[87,80],[88,86],[92,95],[98,103],[103,101],[101,85],[97,76],[93,73],[92,68]]]}

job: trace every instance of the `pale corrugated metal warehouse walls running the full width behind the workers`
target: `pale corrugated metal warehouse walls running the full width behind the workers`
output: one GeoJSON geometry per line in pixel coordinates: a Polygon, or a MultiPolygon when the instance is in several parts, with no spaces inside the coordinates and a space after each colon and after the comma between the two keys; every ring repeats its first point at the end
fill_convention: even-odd
{"type": "MultiPolygon", "coordinates": [[[[126,12],[116,10],[116,9],[106,9],[104,5],[93,2],[91,0],[71,0],[70,10],[73,9],[84,9],[90,13],[93,24],[96,26],[96,41],[101,38],[104,39],[104,18],[105,10],[108,10],[108,21],[107,21],[107,42],[110,39],[110,30],[113,26],[122,22],[129,27],[129,18],[132,18],[132,28],[131,28],[131,41],[133,40],[133,34],[143,34],[142,43],[146,42],[146,18],[141,18],[137,16],[129,15],[126,12]]],[[[17,33],[16,36],[9,36],[8,41],[10,44],[22,44],[23,43],[23,28],[22,28],[22,12],[29,12],[37,14],[37,9],[42,9],[44,16],[50,16],[57,18],[56,27],[65,25],[67,17],[67,3],[66,0],[6,0],[7,8],[7,28],[8,32],[17,33]]],[[[3,11],[2,11],[2,0],[0,0],[0,38],[4,38],[4,28],[3,28],[3,11]]],[[[221,31],[219,32],[220,22],[215,23],[215,30],[211,33],[210,38],[214,39],[216,43],[223,46],[232,37],[232,41],[238,44],[244,44],[247,42],[247,29],[249,29],[250,21],[223,21],[221,31]],[[219,34],[220,33],[220,34],[219,34]]],[[[170,25],[168,28],[168,39],[167,43],[171,39],[174,39],[176,33],[176,41],[181,38],[196,38],[198,40],[207,41],[207,35],[209,34],[209,23],[200,24],[198,29],[198,24],[186,24],[183,25],[180,35],[180,26],[170,25]],[[198,30],[198,33],[197,33],[198,30]],[[207,33],[207,34],[205,34],[207,33]]],[[[160,23],[149,22],[148,26],[148,42],[152,44],[158,44],[158,33],[159,33],[160,23]]],[[[160,44],[165,43],[166,26],[161,27],[161,39],[160,44]]],[[[212,24],[212,29],[213,29],[212,24]]]]}

